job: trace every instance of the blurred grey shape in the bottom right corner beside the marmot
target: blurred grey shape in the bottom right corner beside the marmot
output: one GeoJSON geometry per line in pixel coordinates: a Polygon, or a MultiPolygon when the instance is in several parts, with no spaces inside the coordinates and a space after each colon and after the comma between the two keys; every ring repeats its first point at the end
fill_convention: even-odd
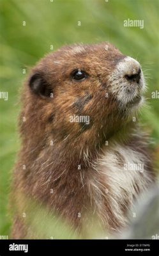
{"type": "Polygon", "coordinates": [[[122,239],[158,239],[159,234],[158,184],[139,196],[129,212],[130,227],[120,234],[122,239]],[[134,216],[132,216],[135,214],[134,216]]]}

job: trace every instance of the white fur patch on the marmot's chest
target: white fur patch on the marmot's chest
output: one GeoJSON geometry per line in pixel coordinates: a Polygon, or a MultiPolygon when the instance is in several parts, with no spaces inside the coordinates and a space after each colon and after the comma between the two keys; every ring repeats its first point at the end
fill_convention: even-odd
{"type": "Polygon", "coordinates": [[[109,150],[106,148],[103,155],[96,161],[95,169],[104,181],[94,180],[94,186],[98,187],[98,193],[100,191],[106,201],[106,207],[104,207],[103,200],[99,202],[99,197],[96,199],[98,215],[100,218],[105,216],[108,227],[111,219],[116,221],[114,227],[112,223],[110,224],[111,229],[116,230],[117,226],[126,225],[127,210],[151,183],[146,163],[148,159],[144,154],[125,145],[113,145],[109,150]],[[105,193],[102,192],[103,186],[105,186],[105,193]]]}

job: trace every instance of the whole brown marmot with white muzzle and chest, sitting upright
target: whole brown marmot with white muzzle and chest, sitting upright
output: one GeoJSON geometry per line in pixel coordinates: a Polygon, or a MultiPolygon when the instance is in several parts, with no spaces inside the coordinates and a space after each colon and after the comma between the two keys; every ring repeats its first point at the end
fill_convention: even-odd
{"type": "Polygon", "coordinates": [[[64,46],[31,70],[13,173],[13,238],[43,238],[29,225],[22,196],[79,235],[94,215],[110,234],[128,225],[128,209],[154,180],[137,124],[145,89],[139,62],[107,42],[64,46]]]}

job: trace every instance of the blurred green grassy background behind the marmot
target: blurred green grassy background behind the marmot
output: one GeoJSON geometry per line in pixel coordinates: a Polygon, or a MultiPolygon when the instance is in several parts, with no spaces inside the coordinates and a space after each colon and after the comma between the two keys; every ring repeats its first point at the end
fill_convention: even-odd
{"type": "Polygon", "coordinates": [[[19,89],[29,67],[61,45],[109,41],[141,63],[148,81],[149,108],[142,110],[140,118],[153,138],[157,163],[159,99],[152,99],[151,92],[159,92],[158,3],[158,0],[0,0],[0,91],[8,92],[7,101],[0,99],[0,235],[10,234],[8,193],[20,147],[19,89]],[[144,28],[124,27],[127,19],[144,20],[144,28]]]}

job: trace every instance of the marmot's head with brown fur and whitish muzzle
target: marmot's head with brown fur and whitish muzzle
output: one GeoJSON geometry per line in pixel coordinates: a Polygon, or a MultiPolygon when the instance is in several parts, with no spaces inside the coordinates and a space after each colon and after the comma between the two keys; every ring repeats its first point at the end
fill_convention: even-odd
{"type": "Polygon", "coordinates": [[[22,115],[56,141],[98,144],[129,122],[145,87],[139,62],[113,45],[66,46],[33,68],[22,115]]]}

